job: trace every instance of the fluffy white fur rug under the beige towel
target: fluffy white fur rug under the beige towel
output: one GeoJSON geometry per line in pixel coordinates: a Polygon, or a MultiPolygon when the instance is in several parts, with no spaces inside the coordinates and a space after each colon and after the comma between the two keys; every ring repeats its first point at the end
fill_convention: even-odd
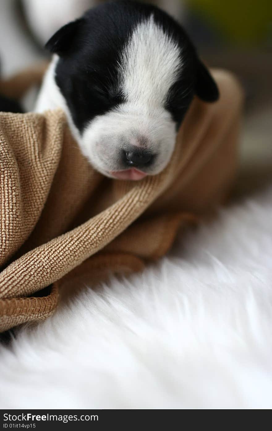
{"type": "Polygon", "coordinates": [[[19,331],[1,407],[271,409],[271,213],[272,188],[19,331]]]}

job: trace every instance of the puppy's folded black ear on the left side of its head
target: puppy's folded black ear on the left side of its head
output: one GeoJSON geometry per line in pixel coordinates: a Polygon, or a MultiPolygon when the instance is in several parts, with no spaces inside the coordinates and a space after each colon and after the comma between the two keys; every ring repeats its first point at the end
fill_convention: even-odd
{"type": "Polygon", "coordinates": [[[76,21],[68,22],[68,24],[61,27],[49,41],[46,43],[45,48],[54,54],[60,56],[69,50],[74,37],[83,24],[84,19],[79,18],[76,21]]]}

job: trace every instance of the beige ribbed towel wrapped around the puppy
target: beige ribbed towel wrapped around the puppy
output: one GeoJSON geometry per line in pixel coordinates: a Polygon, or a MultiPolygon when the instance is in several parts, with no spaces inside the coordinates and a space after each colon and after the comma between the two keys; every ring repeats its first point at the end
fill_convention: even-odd
{"type": "Polygon", "coordinates": [[[213,75],[220,100],[195,98],[167,168],[138,182],[96,172],[60,110],[0,113],[0,331],[49,316],[67,277],[76,287],[86,273],[141,270],[226,197],[242,93],[229,73],[213,75]]]}

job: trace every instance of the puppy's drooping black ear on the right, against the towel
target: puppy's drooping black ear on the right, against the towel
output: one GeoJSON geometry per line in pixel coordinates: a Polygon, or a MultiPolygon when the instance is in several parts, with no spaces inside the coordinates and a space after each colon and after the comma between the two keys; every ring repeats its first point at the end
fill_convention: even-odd
{"type": "Polygon", "coordinates": [[[217,84],[200,60],[196,71],[196,95],[205,102],[215,102],[219,98],[217,84]]]}

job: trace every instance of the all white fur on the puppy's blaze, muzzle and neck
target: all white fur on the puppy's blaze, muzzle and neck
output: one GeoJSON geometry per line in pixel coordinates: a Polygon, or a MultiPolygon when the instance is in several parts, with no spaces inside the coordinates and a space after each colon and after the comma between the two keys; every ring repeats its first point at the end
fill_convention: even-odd
{"type": "Polygon", "coordinates": [[[57,61],[58,56],[54,56],[43,81],[36,112],[64,109],[83,154],[104,175],[112,176],[110,172],[122,169],[120,151],[127,146],[143,146],[155,154],[155,162],[147,172],[149,175],[161,172],[171,158],[176,138],[175,123],[164,105],[180,73],[182,59],[177,44],[155,23],[153,16],[135,28],[122,52],[119,86],[126,102],[92,119],[82,136],[55,83],[57,61]]]}

